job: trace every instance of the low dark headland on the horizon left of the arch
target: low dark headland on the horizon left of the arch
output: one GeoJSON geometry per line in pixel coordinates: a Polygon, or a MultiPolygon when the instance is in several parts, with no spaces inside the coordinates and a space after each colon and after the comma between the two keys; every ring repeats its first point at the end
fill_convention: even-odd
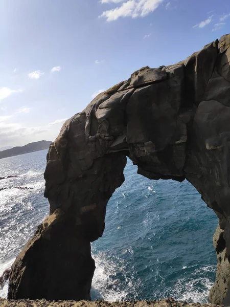
{"type": "Polygon", "coordinates": [[[12,157],[12,156],[18,156],[23,155],[23,153],[28,153],[32,151],[38,151],[49,148],[51,141],[39,141],[34,143],[29,143],[25,146],[17,146],[13,147],[11,149],[0,151],[0,159],[12,157]]]}

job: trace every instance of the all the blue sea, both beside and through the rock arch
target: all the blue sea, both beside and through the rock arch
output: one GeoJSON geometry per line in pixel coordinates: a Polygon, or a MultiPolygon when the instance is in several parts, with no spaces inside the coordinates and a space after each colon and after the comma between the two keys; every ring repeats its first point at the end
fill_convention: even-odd
{"type": "MultiPolygon", "coordinates": [[[[46,154],[0,160],[0,177],[17,176],[0,180],[0,275],[49,214],[43,197],[46,154]]],[[[125,182],[107,204],[103,237],[91,244],[92,299],[208,302],[216,275],[217,216],[188,181],[154,181],[136,171],[128,159],[125,182]]]]}

